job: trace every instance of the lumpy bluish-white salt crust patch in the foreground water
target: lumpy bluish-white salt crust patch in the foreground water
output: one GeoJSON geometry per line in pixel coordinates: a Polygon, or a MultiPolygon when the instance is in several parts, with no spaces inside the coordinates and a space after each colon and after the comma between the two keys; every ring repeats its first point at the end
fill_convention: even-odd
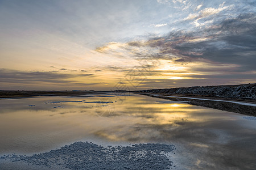
{"type": "Polygon", "coordinates": [[[46,168],[170,169],[173,163],[167,155],[174,150],[174,145],[160,143],[103,147],[89,142],[75,142],[43,154],[11,154],[1,156],[1,159],[46,168]]]}

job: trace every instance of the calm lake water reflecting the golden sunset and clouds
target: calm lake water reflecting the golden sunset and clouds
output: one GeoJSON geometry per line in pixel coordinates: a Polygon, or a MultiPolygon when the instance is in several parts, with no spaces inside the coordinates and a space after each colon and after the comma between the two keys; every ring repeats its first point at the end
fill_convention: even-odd
{"type": "Polygon", "coordinates": [[[136,94],[0,100],[0,155],[75,141],[168,143],[174,169],[254,169],[256,120],[248,117],[136,94]]]}

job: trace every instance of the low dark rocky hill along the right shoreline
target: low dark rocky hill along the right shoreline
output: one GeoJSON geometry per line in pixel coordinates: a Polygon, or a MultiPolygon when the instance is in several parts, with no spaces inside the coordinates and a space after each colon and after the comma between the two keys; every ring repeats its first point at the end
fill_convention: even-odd
{"type": "Polygon", "coordinates": [[[138,93],[256,99],[256,83],[227,86],[196,86],[134,91],[138,93]]]}

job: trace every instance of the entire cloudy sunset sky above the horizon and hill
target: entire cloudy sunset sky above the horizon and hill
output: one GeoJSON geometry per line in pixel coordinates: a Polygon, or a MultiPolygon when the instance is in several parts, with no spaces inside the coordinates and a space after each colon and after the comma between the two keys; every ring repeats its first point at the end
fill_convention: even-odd
{"type": "Polygon", "coordinates": [[[0,90],[256,83],[256,1],[0,0],[0,90]]]}

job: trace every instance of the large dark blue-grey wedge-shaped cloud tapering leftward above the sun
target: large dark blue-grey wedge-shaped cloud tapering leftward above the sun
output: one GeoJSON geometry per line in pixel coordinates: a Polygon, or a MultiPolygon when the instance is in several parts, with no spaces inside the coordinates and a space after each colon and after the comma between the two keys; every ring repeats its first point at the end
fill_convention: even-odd
{"type": "Polygon", "coordinates": [[[175,62],[193,62],[204,58],[212,62],[239,65],[240,71],[256,70],[256,15],[240,14],[216,20],[212,25],[197,31],[172,31],[165,36],[151,38],[143,44],[141,41],[132,41],[127,45],[159,50],[155,53],[147,49],[146,54],[130,50],[134,57],[149,56],[175,62]]]}

